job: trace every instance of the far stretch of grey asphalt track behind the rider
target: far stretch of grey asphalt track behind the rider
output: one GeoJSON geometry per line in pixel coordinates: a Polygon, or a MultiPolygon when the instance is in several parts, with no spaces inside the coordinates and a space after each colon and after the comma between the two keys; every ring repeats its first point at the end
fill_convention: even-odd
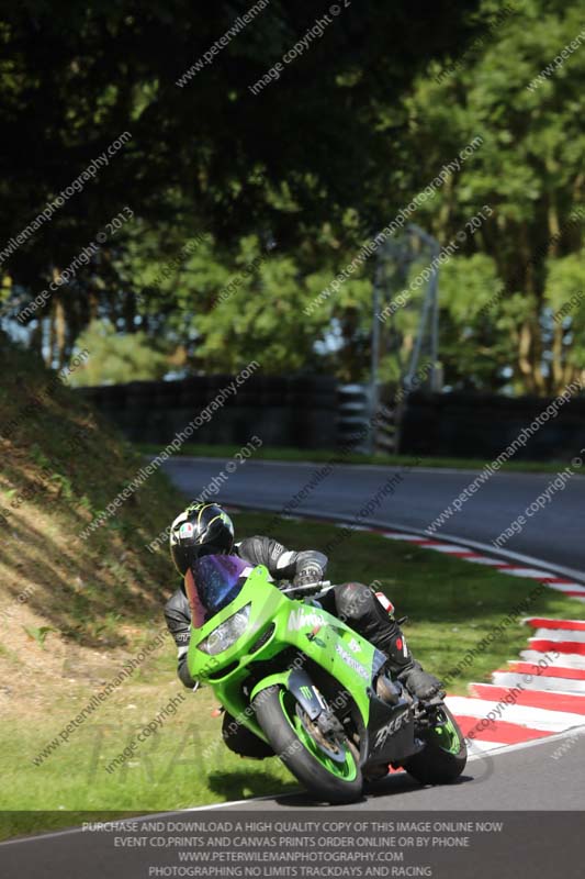
{"type": "MultiPolygon", "coordinates": [[[[323,467],[247,460],[227,475],[225,461],[214,458],[177,457],[165,465],[189,498],[195,498],[223,470],[227,479],[220,483],[217,497],[224,502],[267,510],[281,510],[292,502],[295,505],[289,510],[291,514],[305,512],[349,522],[373,501],[387,480],[397,477],[393,493],[382,498],[364,522],[423,532],[477,475],[472,470],[338,465],[302,500],[293,501],[323,467]]],[[[492,541],[524,514],[554,479],[554,474],[496,474],[432,536],[471,545],[481,543],[493,554],[504,555],[492,546],[492,541]]],[[[585,479],[575,475],[564,490],[550,497],[544,509],[527,516],[521,533],[514,534],[503,549],[531,556],[532,560],[536,557],[555,568],[569,568],[572,576],[585,581],[585,479]]]]}

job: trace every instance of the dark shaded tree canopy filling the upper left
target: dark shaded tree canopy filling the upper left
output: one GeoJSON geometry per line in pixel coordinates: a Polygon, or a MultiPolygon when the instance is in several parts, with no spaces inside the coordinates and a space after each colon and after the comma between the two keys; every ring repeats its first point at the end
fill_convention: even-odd
{"type": "MultiPolygon", "coordinates": [[[[54,343],[47,358],[60,365],[92,318],[117,322],[121,297],[126,329],[140,326],[123,271],[128,257],[165,260],[201,232],[224,252],[271,234],[295,257],[326,224],[342,226],[348,208],[363,234],[373,193],[400,159],[402,122],[379,126],[379,108],[397,107],[429,57],[473,35],[475,5],[363,0],[359,9],[339,4],[331,16],[327,4],[272,0],[191,79],[185,70],[247,12],[248,0],[221,0],[204,14],[188,0],[31,0],[5,11],[0,252],[95,157],[106,160],[98,179],[83,181],[2,257],[13,294],[32,299],[46,289],[124,208],[136,218],[135,230],[109,241],[74,285],[52,291],[42,318],[54,343]],[[279,81],[251,93],[311,29],[308,48],[279,81]],[[121,135],[121,148],[109,153],[121,135]],[[143,229],[157,230],[154,242],[139,240],[143,229]]],[[[31,320],[32,342],[45,351],[45,333],[31,320]]]]}

